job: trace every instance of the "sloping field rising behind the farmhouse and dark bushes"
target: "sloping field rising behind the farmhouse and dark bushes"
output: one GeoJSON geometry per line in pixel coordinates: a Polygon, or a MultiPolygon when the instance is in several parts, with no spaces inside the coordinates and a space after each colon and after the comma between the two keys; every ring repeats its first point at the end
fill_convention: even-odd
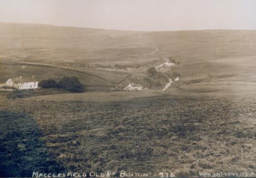
{"type": "Polygon", "coordinates": [[[0,64],[0,83],[5,83],[9,78],[34,77],[38,80],[54,79],[77,76],[86,86],[115,86],[115,83],[124,79],[128,74],[122,72],[90,70],[79,68],[57,68],[26,64],[0,64]]]}

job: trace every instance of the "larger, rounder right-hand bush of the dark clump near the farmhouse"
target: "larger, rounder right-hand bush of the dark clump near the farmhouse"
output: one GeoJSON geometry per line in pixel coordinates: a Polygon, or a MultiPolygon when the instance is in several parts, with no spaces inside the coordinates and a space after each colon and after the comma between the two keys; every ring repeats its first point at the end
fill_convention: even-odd
{"type": "Polygon", "coordinates": [[[64,77],[57,83],[58,88],[66,89],[70,92],[82,92],[84,91],[83,85],[79,81],[78,77],[64,77]]]}

